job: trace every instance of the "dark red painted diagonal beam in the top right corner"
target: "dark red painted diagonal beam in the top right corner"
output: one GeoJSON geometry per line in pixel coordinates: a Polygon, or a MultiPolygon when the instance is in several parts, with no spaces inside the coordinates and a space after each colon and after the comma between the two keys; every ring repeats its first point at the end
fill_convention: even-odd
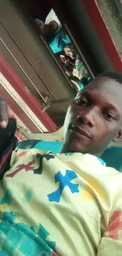
{"type": "Polygon", "coordinates": [[[109,61],[111,61],[111,64],[113,65],[113,69],[116,72],[122,72],[122,61],[120,59],[120,55],[116,50],[116,46],[114,45],[113,39],[105,25],[105,21],[102,18],[102,14],[98,9],[97,3],[94,0],[82,0],[81,4],[87,10],[91,23],[98,34],[98,38],[100,39],[102,46],[104,46],[109,61]]]}

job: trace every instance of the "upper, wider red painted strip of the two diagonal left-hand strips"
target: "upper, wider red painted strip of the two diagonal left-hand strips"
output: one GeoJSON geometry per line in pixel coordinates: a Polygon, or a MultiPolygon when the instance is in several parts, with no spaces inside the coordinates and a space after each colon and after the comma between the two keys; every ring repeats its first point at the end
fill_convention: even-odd
{"type": "Polygon", "coordinates": [[[36,101],[33,95],[28,94],[24,89],[24,83],[20,80],[20,77],[17,76],[17,73],[13,71],[5,58],[0,54],[0,70],[2,75],[5,76],[6,80],[12,85],[12,87],[17,91],[18,95],[23,98],[24,102],[28,107],[35,113],[35,116],[39,118],[42,124],[46,127],[49,132],[55,132],[57,130],[56,124],[45,112],[42,113],[42,107],[39,105],[39,102],[36,101]]]}

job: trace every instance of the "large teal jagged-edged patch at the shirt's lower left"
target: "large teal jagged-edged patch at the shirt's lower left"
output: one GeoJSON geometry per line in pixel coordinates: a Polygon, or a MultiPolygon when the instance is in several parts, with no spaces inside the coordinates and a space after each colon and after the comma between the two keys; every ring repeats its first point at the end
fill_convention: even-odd
{"type": "MultiPolygon", "coordinates": [[[[56,243],[46,240],[49,232],[39,224],[39,232],[24,223],[16,223],[13,213],[5,212],[0,223],[0,253],[10,256],[21,253],[25,256],[52,256],[56,243]]],[[[0,255],[1,255],[0,254],[0,255]]]]}

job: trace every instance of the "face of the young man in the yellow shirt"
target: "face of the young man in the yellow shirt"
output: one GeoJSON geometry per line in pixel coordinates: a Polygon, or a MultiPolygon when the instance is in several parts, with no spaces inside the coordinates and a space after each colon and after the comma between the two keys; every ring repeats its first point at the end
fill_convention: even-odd
{"type": "Polygon", "coordinates": [[[98,76],[79,91],[65,118],[67,152],[97,154],[121,138],[122,85],[98,76]]]}

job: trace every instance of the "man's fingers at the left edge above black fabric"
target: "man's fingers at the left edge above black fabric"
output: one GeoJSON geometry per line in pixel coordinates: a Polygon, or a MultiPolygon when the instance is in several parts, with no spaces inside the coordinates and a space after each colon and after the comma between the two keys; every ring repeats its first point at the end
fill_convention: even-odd
{"type": "Polygon", "coordinates": [[[13,111],[7,106],[6,100],[0,96],[0,128],[6,128],[9,117],[13,118],[13,111]]]}

